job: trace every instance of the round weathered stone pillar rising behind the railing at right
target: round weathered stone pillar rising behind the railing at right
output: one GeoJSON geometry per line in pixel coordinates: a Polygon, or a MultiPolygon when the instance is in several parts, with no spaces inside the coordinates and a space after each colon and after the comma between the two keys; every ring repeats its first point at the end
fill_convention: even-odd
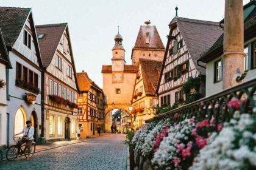
{"type": "Polygon", "coordinates": [[[243,0],[226,0],[224,18],[223,89],[235,86],[244,72],[243,0]]]}

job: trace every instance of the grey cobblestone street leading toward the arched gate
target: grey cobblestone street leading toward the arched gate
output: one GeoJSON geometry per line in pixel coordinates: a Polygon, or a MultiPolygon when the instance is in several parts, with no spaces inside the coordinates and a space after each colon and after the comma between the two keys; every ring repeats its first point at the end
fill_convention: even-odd
{"type": "Polygon", "coordinates": [[[35,153],[29,161],[25,157],[2,161],[0,169],[126,169],[124,140],[123,134],[103,134],[81,143],[35,153]]]}

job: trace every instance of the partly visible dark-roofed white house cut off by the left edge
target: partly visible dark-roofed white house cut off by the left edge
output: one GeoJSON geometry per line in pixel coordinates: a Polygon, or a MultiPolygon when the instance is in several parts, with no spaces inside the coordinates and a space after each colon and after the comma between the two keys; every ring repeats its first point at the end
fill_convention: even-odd
{"type": "Polygon", "coordinates": [[[7,144],[6,69],[12,69],[12,64],[0,29],[0,149],[7,144]]]}

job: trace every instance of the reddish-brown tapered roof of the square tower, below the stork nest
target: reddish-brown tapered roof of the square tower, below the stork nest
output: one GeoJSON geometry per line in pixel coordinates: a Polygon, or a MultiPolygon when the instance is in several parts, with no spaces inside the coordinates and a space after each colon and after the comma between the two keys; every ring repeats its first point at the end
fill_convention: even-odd
{"type": "Polygon", "coordinates": [[[133,49],[163,49],[163,42],[157,32],[155,25],[141,25],[138,33],[135,46],[133,49]],[[146,33],[150,34],[150,42],[146,43],[146,33]]]}

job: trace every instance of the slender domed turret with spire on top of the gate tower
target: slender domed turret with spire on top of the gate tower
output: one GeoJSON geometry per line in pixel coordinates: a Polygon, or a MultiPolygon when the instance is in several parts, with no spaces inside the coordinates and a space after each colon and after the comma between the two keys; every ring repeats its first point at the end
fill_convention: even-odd
{"type": "Polygon", "coordinates": [[[115,46],[112,49],[113,57],[112,57],[112,72],[123,72],[124,64],[126,61],[124,60],[124,47],[122,45],[123,37],[119,34],[115,36],[115,46]]]}

